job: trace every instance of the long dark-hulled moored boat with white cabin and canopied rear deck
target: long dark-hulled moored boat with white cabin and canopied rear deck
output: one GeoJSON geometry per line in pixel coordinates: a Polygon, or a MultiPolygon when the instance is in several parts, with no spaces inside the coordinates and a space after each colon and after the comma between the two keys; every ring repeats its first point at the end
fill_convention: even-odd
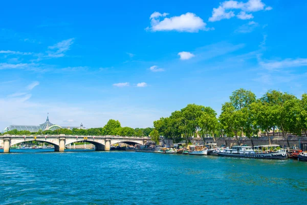
{"type": "Polygon", "coordinates": [[[233,146],[232,148],[220,148],[217,149],[215,152],[218,156],[226,156],[226,157],[243,157],[243,158],[259,158],[259,159],[287,158],[286,150],[268,149],[270,147],[273,148],[276,146],[275,145],[255,146],[256,148],[255,150],[253,150],[252,147],[250,146],[233,146]]]}

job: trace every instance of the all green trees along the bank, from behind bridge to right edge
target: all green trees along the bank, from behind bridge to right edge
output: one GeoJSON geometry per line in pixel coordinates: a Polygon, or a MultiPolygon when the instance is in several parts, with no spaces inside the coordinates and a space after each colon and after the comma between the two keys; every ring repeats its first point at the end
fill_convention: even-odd
{"type": "MultiPolygon", "coordinates": [[[[161,117],[153,121],[153,128],[129,128],[121,127],[118,120],[110,119],[102,128],[82,129],[58,129],[38,131],[12,130],[4,134],[27,135],[27,134],[72,134],[72,135],[119,135],[119,136],[150,136],[152,141],[159,142],[160,137],[172,139],[174,142],[186,140],[191,137],[216,137],[225,139],[246,136],[251,139],[261,134],[269,136],[269,133],[281,132],[282,137],[287,139],[287,133],[307,136],[307,94],[301,98],[280,92],[268,90],[262,97],[245,89],[235,90],[229,97],[229,101],[222,105],[220,116],[211,107],[189,104],[185,108],[174,111],[169,117],[161,117]]],[[[270,137],[269,144],[271,144],[270,137]]]]}

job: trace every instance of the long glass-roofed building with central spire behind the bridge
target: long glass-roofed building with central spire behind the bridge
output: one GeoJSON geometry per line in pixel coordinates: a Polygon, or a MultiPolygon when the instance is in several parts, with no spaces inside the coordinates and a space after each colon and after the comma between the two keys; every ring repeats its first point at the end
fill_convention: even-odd
{"type": "Polygon", "coordinates": [[[27,130],[30,132],[38,132],[39,130],[45,131],[45,130],[57,130],[57,129],[70,129],[72,130],[73,128],[77,128],[77,129],[85,129],[85,127],[83,127],[83,124],[81,123],[80,127],[70,127],[70,126],[58,126],[55,124],[52,124],[49,121],[49,117],[47,116],[46,122],[44,122],[43,124],[40,124],[38,126],[35,125],[10,125],[9,127],[6,127],[4,129],[4,132],[8,132],[11,130],[18,130],[18,131],[23,131],[23,130],[27,130]]]}

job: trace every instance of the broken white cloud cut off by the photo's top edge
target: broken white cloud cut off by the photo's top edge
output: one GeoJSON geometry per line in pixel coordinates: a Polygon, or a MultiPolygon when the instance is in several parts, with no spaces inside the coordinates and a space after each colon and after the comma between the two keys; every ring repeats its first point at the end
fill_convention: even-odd
{"type": "Polygon", "coordinates": [[[216,22],[222,19],[229,19],[235,16],[234,12],[231,9],[241,10],[237,14],[239,19],[251,19],[253,18],[252,14],[247,14],[246,12],[256,12],[261,10],[272,10],[272,7],[267,7],[261,0],[249,0],[247,3],[237,2],[237,1],[225,1],[220,3],[220,6],[213,8],[212,16],[209,18],[209,22],[216,22]],[[230,11],[229,11],[230,10],[230,11]]]}

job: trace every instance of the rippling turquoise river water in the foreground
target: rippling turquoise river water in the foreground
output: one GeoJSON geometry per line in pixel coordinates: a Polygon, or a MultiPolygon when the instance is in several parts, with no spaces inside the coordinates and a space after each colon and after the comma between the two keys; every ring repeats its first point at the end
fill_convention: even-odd
{"type": "Polygon", "coordinates": [[[302,161],[21,151],[0,153],[0,204],[297,204],[307,200],[307,163],[302,161]]]}

